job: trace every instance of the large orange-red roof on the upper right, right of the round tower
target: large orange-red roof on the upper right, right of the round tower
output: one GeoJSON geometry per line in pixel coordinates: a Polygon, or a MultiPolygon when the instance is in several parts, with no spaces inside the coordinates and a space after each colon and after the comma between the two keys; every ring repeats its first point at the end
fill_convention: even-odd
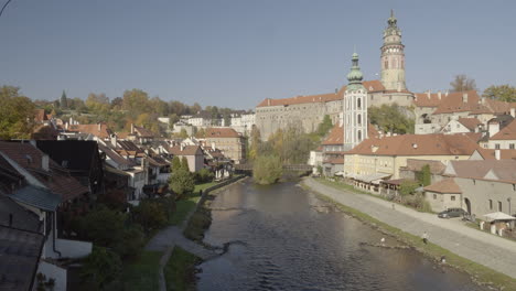
{"type": "Polygon", "coordinates": [[[476,90],[450,93],[441,100],[434,115],[473,111],[480,107],[480,97],[476,90]],[[467,96],[466,100],[464,96],[467,96]]]}

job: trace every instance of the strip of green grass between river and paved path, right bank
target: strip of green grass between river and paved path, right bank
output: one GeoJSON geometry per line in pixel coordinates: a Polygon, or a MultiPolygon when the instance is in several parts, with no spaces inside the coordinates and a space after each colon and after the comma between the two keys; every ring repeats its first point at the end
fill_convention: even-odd
{"type": "MultiPolygon", "coordinates": [[[[303,186],[308,187],[304,184],[303,186]]],[[[318,196],[321,197],[322,200],[331,202],[332,204],[335,204],[344,213],[347,213],[348,215],[359,219],[361,222],[365,224],[370,225],[374,228],[377,228],[378,230],[385,234],[396,237],[400,241],[413,247],[416,250],[433,259],[437,262],[440,261],[441,256],[445,256],[447,265],[467,272],[472,277],[473,281],[475,281],[476,283],[495,287],[499,290],[516,290],[516,280],[514,280],[513,278],[506,274],[499,273],[487,267],[484,267],[482,265],[479,265],[476,262],[462,258],[449,251],[448,249],[444,249],[432,242],[429,242],[426,245],[422,242],[421,238],[418,236],[405,233],[401,229],[390,226],[386,223],[383,223],[365,213],[362,213],[346,205],[340,204],[329,198],[322,193],[319,193],[310,187],[308,188],[311,192],[318,194],[318,196]]]]}

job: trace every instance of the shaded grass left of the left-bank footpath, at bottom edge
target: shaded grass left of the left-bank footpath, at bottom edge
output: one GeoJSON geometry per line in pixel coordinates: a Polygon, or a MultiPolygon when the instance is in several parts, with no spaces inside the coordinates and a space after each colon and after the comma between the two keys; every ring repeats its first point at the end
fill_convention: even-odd
{"type": "Polygon", "coordinates": [[[161,251],[142,251],[137,258],[123,263],[122,290],[159,290],[161,251]]]}

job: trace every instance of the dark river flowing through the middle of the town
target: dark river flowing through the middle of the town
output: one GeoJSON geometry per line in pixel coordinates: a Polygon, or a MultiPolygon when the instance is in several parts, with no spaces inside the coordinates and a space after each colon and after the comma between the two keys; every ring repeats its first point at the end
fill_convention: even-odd
{"type": "Polygon", "coordinates": [[[206,244],[228,251],[200,266],[198,290],[483,290],[287,182],[216,194],[206,244]]]}

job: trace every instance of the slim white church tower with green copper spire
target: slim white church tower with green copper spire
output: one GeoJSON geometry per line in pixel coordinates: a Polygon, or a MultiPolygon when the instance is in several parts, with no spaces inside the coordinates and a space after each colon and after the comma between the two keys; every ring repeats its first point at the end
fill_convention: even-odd
{"type": "Polygon", "coordinates": [[[344,91],[344,150],[351,150],[367,138],[367,90],[362,85],[358,54],[352,57],[352,68],[347,74],[344,91]]]}

